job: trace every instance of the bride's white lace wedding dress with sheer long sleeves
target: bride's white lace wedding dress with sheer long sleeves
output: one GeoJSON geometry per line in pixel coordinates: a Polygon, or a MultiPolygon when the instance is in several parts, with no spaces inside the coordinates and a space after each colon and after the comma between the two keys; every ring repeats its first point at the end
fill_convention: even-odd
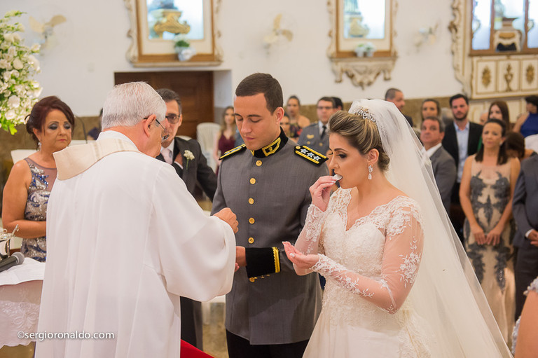
{"type": "Polygon", "coordinates": [[[304,357],[429,357],[427,323],[406,297],[420,264],[423,233],[415,200],[398,196],[347,226],[351,189],[326,212],[311,205],[296,248],[318,252],[323,308],[304,357]]]}

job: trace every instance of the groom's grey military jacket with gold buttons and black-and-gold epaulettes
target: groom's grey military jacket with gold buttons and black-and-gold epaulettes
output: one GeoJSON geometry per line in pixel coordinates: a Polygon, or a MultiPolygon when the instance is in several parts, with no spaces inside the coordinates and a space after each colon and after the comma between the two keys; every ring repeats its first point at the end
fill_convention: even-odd
{"type": "Polygon", "coordinates": [[[223,158],[213,200],[212,212],[230,207],[237,215],[237,245],[247,248],[247,268],[235,273],[226,295],[226,329],[251,345],[308,340],[321,310],[317,274],[296,275],[282,241],[297,240],[311,202],[308,189],[328,170],[315,153],[287,142],[283,133],[279,138],[286,143],[277,151],[268,148],[266,157],[256,158],[258,151],[254,156],[242,146],[223,158]],[[321,163],[313,163],[315,158],[321,163]],[[273,261],[271,247],[277,248],[280,272],[249,278],[249,266],[256,266],[249,248],[269,248],[273,261]]]}

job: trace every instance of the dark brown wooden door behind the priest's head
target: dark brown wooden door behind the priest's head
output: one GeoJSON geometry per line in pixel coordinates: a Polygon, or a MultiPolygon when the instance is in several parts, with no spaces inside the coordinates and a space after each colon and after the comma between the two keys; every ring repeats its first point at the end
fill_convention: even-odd
{"type": "Polygon", "coordinates": [[[196,138],[196,126],[214,122],[212,71],[116,72],[114,83],[144,81],[151,87],[170,88],[179,94],[183,124],[177,135],[196,138]]]}

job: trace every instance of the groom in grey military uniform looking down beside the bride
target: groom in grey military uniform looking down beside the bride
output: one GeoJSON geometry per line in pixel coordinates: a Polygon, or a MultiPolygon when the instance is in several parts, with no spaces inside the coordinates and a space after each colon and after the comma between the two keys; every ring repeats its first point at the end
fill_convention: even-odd
{"type": "Polygon", "coordinates": [[[302,357],[321,310],[317,275],[296,275],[282,241],[304,226],[309,187],[328,174],[326,157],[289,141],[280,83],[252,74],[235,90],[244,144],[224,153],[213,212],[230,207],[239,230],[233,288],[226,295],[230,358],[302,357]]]}

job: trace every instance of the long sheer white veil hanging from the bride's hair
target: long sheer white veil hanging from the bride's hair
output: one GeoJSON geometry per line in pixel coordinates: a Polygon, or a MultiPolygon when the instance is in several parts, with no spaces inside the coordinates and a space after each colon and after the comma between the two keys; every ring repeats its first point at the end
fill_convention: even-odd
{"type": "Polygon", "coordinates": [[[421,208],[424,249],[407,300],[425,321],[433,342],[432,357],[511,357],[448,219],[422,144],[391,102],[353,102],[350,113],[364,111],[375,119],[390,158],[387,179],[421,208]]]}

